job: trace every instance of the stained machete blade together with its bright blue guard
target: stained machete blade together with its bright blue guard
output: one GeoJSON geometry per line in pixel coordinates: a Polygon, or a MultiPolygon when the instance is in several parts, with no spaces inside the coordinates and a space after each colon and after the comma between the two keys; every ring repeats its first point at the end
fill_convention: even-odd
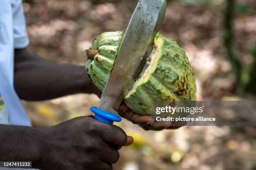
{"type": "Polygon", "coordinates": [[[146,64],[166,11],[166,0],[139,0],[125,34],[98,107],[91,107],[95,119],[120,122],[118,108],[146,64]]]}

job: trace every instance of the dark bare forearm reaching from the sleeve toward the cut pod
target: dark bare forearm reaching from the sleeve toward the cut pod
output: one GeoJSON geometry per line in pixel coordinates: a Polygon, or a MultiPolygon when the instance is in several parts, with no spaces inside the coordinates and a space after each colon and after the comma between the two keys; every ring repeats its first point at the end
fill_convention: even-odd
{"type": "Polygon", "coordinates": [[[21,99],[48,100],[80,92],[100,95],[83,66],[55,64],[25,49],[16,49],[14,56],[14,87],[21,99]]]}

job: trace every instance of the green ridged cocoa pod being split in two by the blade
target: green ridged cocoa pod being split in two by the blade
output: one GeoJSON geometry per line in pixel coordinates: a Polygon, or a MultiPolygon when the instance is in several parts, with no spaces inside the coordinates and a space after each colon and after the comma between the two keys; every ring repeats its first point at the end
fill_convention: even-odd
{"type": "MultiPolygon", "coordinates": [[[[113,68],[122,33],[103,32],[90,47],[97,50],[97,55],[94,59],[87,55],[87,74],[101,91],[113,68]]],[[[131,110],[141,115],[151,115],[155,112],[154,101],[196,100],[194,71],[177,42],[157,34],[147,65],[125,96],[124,101],[131,110]]]]}

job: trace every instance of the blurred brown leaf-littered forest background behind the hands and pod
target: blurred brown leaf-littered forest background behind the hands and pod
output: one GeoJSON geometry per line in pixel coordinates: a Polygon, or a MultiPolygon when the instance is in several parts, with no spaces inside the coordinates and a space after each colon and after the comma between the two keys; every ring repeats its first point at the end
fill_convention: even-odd
{"type": "MultiPolygon", "coordinates": [[[[125,30],[137,0],[23,0],[28,50],[57,63],[84,65],[96,35],[125,30]]],[[[161,32],[184,48],[195,70],[197,100],[255,100],[256,1],[167,0],[161,32]]],[[[23,102],[34,126],[90,115],[96,95],[23,102]]],[[[134,144],[115,170],[256,170],[256,128],[182,127],[144,131],[118,124],[134,144]]],[[[49,139],[51,140],[51,139],[49,139]]]]}

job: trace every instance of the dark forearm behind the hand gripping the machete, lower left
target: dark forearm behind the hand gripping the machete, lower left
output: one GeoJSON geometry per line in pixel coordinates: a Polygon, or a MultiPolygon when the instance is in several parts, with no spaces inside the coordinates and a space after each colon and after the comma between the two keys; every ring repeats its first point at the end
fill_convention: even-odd
{"type": "Polygon", "coordinates": [[[41,153],[42,129],[26,126],[0,125],[0,160],[37,163],[41,153]],[[41,136],[40,136],[41,135],[41,136]]]}

